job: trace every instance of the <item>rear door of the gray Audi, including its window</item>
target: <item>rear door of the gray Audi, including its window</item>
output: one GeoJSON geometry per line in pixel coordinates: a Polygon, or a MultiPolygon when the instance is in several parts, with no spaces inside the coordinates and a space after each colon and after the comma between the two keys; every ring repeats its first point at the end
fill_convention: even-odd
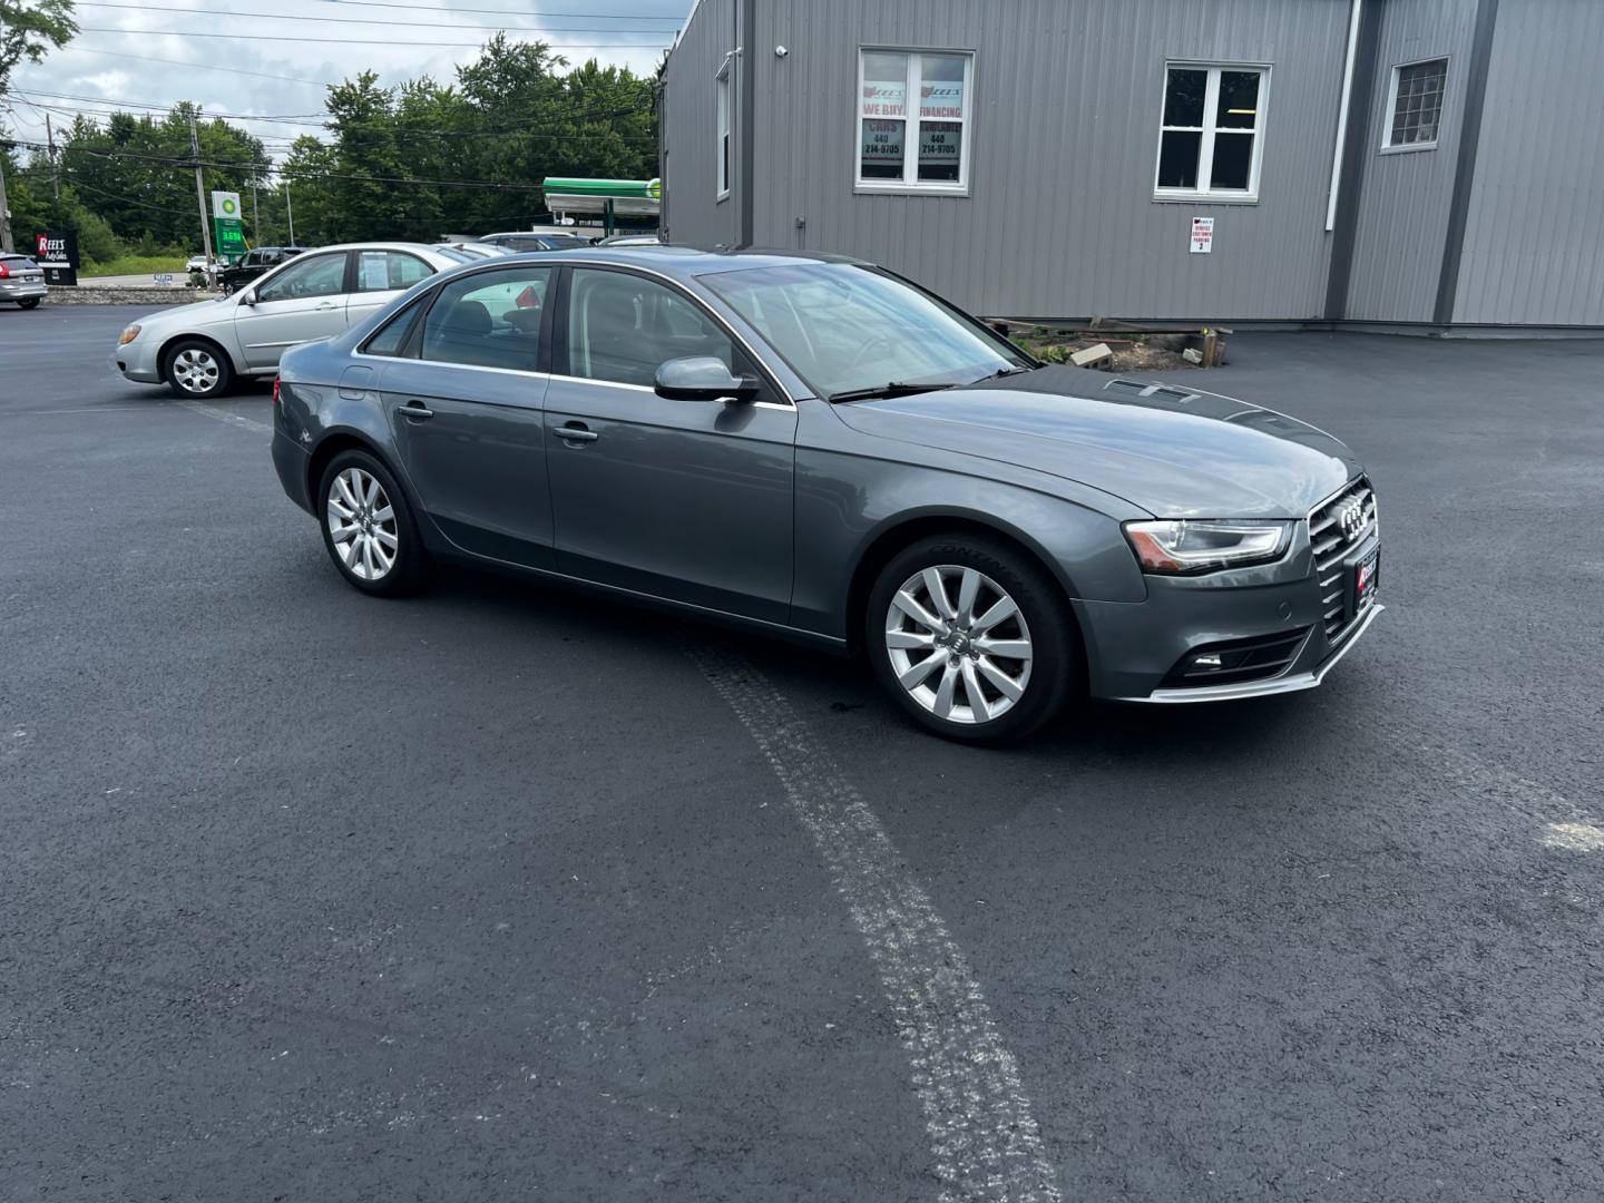
{"type": "Polygon", "coordinates": [[[464,552],[544,569],[555,566],[541,409],[552,274],[525,265],[460,276],[417,330],[403,311],[366,348],[395,356],[379,387],[423,512],[464,552]]]}

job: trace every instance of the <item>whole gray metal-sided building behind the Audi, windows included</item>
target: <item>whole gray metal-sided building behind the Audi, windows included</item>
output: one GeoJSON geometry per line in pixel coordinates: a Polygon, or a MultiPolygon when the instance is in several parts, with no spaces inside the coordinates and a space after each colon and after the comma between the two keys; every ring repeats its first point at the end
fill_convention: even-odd
{"type": "Polygon", "coordinates": [[[664,234],[994,318],[1596,329],[1601,50],[1604,0],[699,0],[664,234]]]}

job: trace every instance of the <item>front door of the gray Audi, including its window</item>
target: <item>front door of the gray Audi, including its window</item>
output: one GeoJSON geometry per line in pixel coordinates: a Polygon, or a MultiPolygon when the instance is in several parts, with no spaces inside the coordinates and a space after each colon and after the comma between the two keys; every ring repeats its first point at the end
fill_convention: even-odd
{"type": "Polygon", "coordinates": [[[622,269],[571,268],[545,398],[558,568],[569,576],[786,622],[796,409],[667,401],[658,364],[754,366],[688,295],[622,269]]]}

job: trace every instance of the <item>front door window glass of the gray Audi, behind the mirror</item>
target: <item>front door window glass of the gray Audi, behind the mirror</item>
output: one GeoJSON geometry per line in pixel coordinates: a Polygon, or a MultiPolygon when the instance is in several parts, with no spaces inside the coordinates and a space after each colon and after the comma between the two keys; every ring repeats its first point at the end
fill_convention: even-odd
{"type": "Polygon", "coordinates": [[[568,294],[568,374],[651,387],[669,359],[711,354],[735,367],[735,345],[701,306],[656,281],[576,268],[568,294]]]}

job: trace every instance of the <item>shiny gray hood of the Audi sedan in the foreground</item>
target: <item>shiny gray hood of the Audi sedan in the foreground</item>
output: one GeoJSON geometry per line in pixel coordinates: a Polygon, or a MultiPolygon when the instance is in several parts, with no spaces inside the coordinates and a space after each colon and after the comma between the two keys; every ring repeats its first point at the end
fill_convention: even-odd
{"type": "Polygon", "coordinates": [[[866,435],[1079,481],[1160,518],[1302,518],[1359,473],[1338,439],[1272,409],[1075,367],[836,414],[866,435]]]}

